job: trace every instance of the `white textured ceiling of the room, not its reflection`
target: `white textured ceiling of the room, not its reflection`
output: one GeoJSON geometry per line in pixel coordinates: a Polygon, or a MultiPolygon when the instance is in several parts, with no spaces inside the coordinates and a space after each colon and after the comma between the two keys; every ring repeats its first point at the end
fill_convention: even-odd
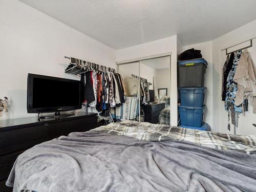
{"type": "Polygon", "coordinates": [[[20,0],[114,49],[215,39],[256,19],[256,0],[20,0]]]}

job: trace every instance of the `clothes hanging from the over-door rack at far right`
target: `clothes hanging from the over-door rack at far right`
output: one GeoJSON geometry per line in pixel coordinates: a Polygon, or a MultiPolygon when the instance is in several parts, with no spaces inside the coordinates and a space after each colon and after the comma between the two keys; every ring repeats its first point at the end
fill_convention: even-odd
{"type": "Polygon", "coordinates": [[[247,49],[227,55],[222,72],[222,100],[230,130],[229,117],[237,126],[238,114],[248,110],[248,103],[256,113],[256,71],[247,49]]]}

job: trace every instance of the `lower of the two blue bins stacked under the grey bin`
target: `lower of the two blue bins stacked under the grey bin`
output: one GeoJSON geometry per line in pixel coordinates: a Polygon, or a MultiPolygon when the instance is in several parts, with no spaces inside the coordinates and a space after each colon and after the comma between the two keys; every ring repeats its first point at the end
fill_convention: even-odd
{"type": "Polygon", "coordinates": [[[180,124],[186,126],[201,127],[205,106],[178,106],[180,114],[180,124]]]}

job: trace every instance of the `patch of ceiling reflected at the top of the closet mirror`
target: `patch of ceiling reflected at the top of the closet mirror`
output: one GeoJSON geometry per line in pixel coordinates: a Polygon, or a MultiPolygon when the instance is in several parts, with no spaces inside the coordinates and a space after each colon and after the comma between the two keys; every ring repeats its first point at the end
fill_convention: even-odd
{"type": "Polygon", "coordinates": [[[169,57],[159,57],[155,59],[147,59],[140,61],[142,64],[151,67],[153,69],[159,70],[159,69],[169,69],[170,68],[170,60],[169,57]]]}

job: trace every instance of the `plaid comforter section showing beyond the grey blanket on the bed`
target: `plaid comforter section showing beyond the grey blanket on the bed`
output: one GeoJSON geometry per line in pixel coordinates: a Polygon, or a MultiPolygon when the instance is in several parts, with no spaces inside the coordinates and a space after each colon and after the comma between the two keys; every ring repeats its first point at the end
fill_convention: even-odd
{"type": "Polygon", "coordinates": [[[145,141],[180,140],[193,142],[216,150],[232,150],[256,154],[256,135],[229,135],[131,120],[110,123],[106,126],[97,127],[94,130],[113,135],[129,136],[145,141]]]}

